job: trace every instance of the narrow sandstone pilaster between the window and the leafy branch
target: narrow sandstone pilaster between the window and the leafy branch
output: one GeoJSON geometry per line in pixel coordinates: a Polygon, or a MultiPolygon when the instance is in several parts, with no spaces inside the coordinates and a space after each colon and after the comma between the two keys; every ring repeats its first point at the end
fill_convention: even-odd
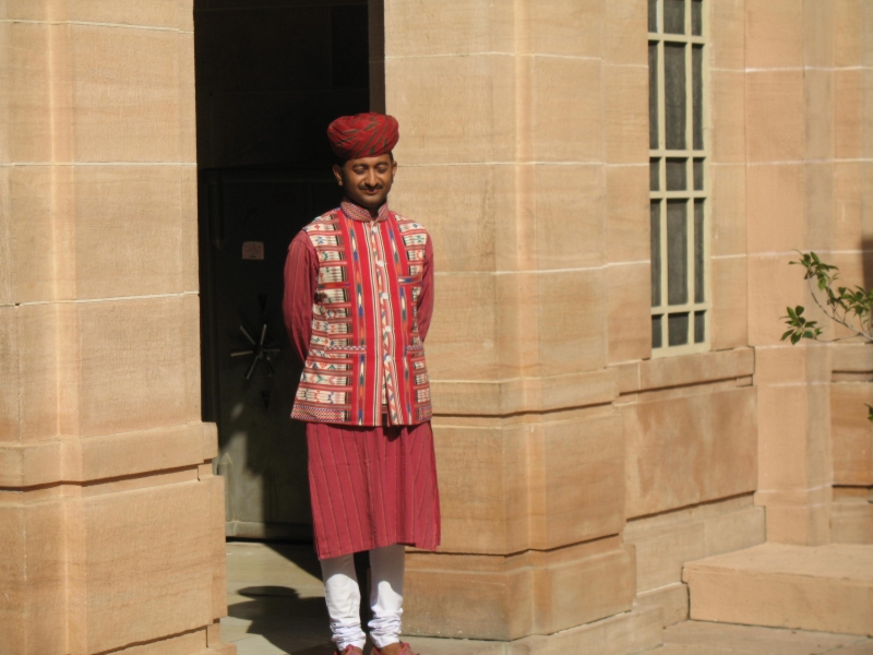
{"type": "MultiPolygon", "coordinates": [[[[780,342],[779,317],[786,306],[803,305],[824,320],[801,270],[788,265],[796,250],[814,250],[840,265],[847,281],[860,282],[860,226],[849,227],[846,213],[835,212],[839,179],[853,168],[844,166],[846,126],[837,120],[835,104],[844,75],[835,53],[846,36],[835,17],[850,4],[745,3],[749,332],[760,401],[756,501],[767,508],[772,541],[830,539],[832,348],[780,342]]],[[[824,321],[826,335],[838,335],[824,321]]]]}

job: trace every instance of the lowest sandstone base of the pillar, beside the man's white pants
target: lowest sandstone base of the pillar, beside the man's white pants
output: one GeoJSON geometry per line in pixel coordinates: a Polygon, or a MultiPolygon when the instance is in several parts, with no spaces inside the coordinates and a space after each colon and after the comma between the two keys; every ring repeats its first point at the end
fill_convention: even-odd
{"type": "Polygon", "coordinates": [[[404,631],[501,641],[551,634],[627,611],[633,584],[631,552],[598,544],[510,558],[408,555],[404,631]]]}

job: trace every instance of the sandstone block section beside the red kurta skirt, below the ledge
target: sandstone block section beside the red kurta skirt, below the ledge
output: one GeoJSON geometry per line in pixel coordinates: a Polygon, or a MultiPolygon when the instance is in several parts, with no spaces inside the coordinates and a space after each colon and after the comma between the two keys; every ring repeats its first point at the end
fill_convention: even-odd
{"type": "Polygon", "coordinates": [[[620,418],[555,418],[503,428],[436,422],[441,551],[507,555],[621,531],[620,418]]]}

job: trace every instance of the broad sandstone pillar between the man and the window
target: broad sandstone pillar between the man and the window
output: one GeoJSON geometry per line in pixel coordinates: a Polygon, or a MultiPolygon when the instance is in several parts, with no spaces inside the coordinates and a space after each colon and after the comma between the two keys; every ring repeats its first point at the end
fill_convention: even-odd
{"type": "Polygon", "coordinates": [[[610,313],[625,283],[642,287],[625,307],[642,294],[648,311],[648,235],[608,253],[606,218],[609,181],[638,184],[624,207],[647,221],[645,17],[642,2],[385,1],[393,203],[431,231],[438,271],[443,545],[407,558],[408,632],[516,640],[631,609],[608,325],[615,359],[648,353],[647,313],[642,329],[610,313]],[[623,51],[629,20],[643,39],[623,51]],[[613,254],[637,261],[614,284],[613,254]]]}

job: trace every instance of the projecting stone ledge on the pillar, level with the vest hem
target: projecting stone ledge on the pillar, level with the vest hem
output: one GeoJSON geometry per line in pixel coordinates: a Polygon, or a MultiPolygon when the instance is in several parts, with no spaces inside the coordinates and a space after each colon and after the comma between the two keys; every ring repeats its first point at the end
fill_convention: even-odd
{"type": "Polygon", "coordinates": [[[603,405],[618,397],[617,371],[512,378],[509,380],[431,380],[438,416],[506,416],[603,405]]]}

